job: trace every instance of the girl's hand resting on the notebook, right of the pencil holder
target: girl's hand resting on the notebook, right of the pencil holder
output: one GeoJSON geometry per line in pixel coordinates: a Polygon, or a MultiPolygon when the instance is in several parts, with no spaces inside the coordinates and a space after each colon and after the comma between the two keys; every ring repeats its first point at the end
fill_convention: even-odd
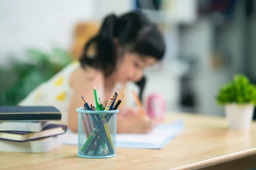
{"type": "Polygon", "coordinates": [[[117,133],[149,133],[158,122],[138,111],[127,108],[117,117],[117,133]]]}

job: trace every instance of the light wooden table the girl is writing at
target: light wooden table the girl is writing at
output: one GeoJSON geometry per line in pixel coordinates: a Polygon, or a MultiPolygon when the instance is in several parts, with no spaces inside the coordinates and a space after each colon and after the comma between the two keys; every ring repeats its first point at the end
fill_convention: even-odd
{"type": "Polygon", "coordinates": [[[256,167],[256,122],[250,131],[227,130],[224,118],[169,114],[183,118],[186,130],[161,150],[117,148],[110,159],[78,157],[77,146],[62,145],[47,153],[0,152],[2,170],[243,170],[256,167]]]}

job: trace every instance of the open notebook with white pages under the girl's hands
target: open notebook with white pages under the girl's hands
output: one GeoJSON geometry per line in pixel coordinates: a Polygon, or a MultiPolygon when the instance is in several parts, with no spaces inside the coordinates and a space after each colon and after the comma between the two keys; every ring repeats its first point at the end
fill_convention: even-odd
{"type": "MultiPolygon", "coordinates": [[[[183,129],[184,122],[180,119],[172,123],[158,125],[153,132],[147,134],[118,133],[116,147],[161,149],[183,129]]],[[[78,144],[77,133],[67,132],[60,137],[62,144],[78,144]]]]}

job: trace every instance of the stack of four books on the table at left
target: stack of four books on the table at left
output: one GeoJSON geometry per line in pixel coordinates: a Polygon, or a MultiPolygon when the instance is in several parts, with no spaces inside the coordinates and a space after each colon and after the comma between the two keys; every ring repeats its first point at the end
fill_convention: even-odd
{"type": "Polygon", "coordinates": [[[66,125],[51,106],[0,106],[0,151],[45,153],[60,144],[66,125]]]}

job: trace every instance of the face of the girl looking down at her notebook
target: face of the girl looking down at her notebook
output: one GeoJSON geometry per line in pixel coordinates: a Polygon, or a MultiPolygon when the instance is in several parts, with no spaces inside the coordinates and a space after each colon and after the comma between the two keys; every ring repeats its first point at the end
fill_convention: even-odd
{"type": "Polygon", "coordinates": [[[144,70],[157,62],[152,56],[141,56],[137,53],[126,52],[116,63],[116,69],[112,74],[118,82],[137,82],[142,79],[144,70]]]}

